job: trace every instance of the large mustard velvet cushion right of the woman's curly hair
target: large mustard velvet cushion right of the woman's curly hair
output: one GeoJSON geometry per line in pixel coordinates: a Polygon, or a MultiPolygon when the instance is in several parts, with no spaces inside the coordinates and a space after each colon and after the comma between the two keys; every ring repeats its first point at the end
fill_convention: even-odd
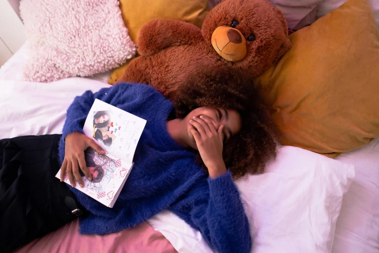
{"type": "Polygon", "coordinates": [[[348,0],[289,36],[260,77],[282,144],[334,157],[379,136],[379,32],[366,0],[348,0]]]}

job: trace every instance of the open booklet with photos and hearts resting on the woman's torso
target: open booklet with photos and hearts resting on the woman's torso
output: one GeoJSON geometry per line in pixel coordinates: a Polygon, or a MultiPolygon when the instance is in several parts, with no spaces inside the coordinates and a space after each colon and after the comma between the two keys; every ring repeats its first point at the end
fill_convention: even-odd
{"type": "MultiPolygon", "coordinates": [[[[134,153],[145,125],[146,120],[95,99],[83,132],[98,142],[106,154],[91,148],[84,152],[92,181],[80,171],[84,188],[79,184],[75,188],[113,207],[133,167],[134,153]]],[[[61,177],[61,170],[56,177],[61,177]]],[[[67,174],[63,181],[71,185],[67,174]]]]}

